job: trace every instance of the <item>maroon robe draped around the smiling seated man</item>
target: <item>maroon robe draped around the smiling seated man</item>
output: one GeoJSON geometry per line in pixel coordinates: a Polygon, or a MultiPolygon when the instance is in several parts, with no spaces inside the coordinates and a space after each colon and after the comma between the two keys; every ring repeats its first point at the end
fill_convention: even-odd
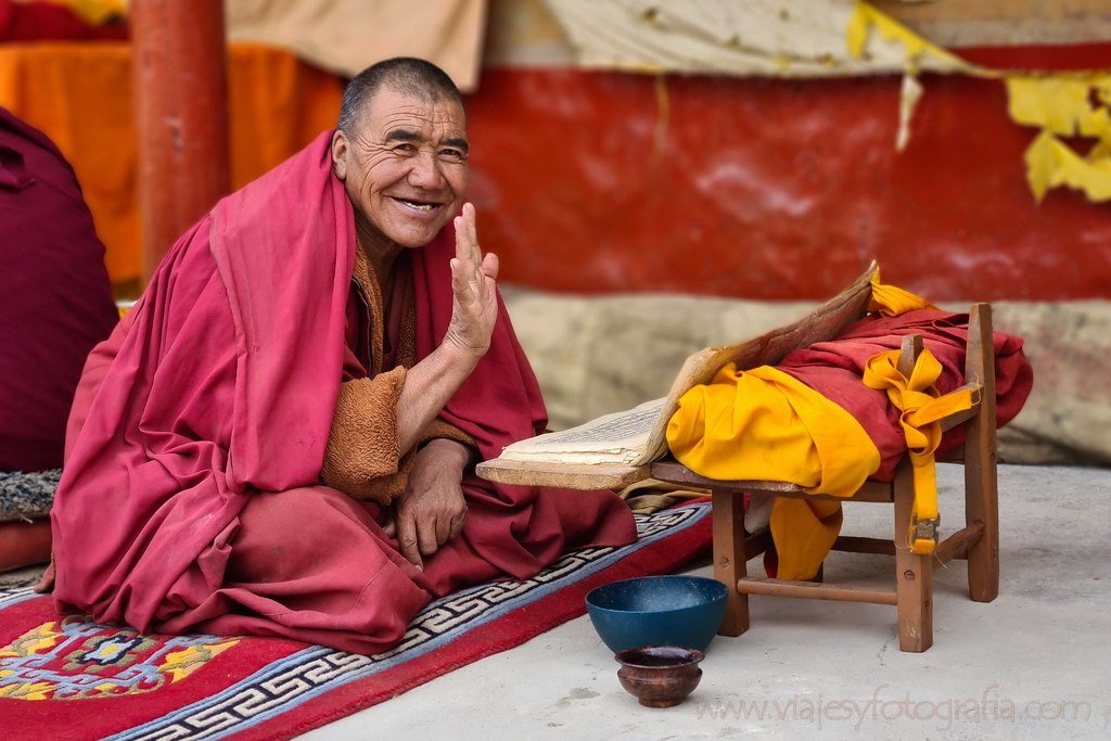
{"type": "MultiPolygon", "coordinates": [[[[141,631],[374,653],[434,595],[635,539],[611,492],[468,475],[463,532],[422,571],[384,535],[378,505],[321,483],[354,260],[329,142],[220,201],[93,351],[52,512],[60,609],[141,631]]],[[[450,320],[452,239],[411,253],[418,358],[450,320]]],[[[483,458],[544,424],[501,309],[489,352],[442,413],[483,458]]]]}

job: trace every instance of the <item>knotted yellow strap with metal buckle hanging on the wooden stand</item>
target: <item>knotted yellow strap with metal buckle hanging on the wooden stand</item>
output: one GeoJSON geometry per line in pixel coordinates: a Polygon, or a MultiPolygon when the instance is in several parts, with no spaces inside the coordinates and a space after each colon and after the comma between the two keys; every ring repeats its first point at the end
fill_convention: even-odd
{"type": "Polygon", "coordinates": [[[941,370],[941,363],[925,348],[919,354],[910,378],[899,370],[899,350],[872,356],[864,368],[864,385],[887,391],[888,400],[902,412],[900,423],[914,473],[914,504],[908,533],[908,542],[914,553],[932,553],[938,544],[938,482],[933,451],[941,442],[939,420],[972,408],[971,389],[937,395],[933,384],[941,370]],[[919,527],[927,522],[931,523],[930,528],[919,527]]]}

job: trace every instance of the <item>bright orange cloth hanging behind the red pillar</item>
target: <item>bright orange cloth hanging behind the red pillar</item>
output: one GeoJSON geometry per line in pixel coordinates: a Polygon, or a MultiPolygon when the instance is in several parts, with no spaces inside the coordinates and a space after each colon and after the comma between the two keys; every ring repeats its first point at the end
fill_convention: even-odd
{"type": "MultiPolygon", "coordinates": [[[[142,272],[126,42],[0,46],[0,106],[49,136],[73,166],[113,283],[142,272]]],[[[231,181],[240,188],[336,123],[343,80],[286,51],[228,49],[231,181]]]]}

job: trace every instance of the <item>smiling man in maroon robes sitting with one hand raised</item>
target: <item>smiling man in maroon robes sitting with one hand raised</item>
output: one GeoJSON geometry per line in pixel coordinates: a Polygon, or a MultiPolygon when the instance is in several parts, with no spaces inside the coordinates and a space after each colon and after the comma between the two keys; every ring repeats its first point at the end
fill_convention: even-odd
{"type": "Polygon", "coordinates": [[[372,654],[434,597],[635,539],[611,492],[474,475],[546,411],[468,147],[451,79],[387,60],[178,240],[78,389],[60,610],[372,654]]]}

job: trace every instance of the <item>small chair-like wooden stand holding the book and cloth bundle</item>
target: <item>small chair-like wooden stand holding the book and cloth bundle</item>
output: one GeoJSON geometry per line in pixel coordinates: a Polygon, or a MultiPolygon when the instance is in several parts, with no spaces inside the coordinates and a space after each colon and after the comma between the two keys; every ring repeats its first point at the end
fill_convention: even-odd
{"type": "MultiPolygon", "coordinates": [[[[900,369],[909,374],[921,338],[903,342],[900,369]]],[[[894,559],[894,588],[862,589],[851,585],[799,582],[749,577],[748,560],[770,545],[767,532],[744,531],[743,495],[838,499],[809,494],[783,481],[720,481],[694,473],[671,459],[644,465],[589,465],[494,459],[478,465],[478,474],[509,484],[551,485],[571,489],[621,489],[645,479],[711,492],[713,519],[714,578],[729,588],[725,618],[720,634],[739,635],[749,628],[750,594],[818,600],[868,602],[895,607],[899,647],[903,651],[925,651],[933,644],[933,571],[953,559],[968,561],[969,594],[973,601],[990,602],[999,593],[999,493],[995,469],[995,381],[991,308],[975,304],[969,314],[969,346],[965,380],[974,387],[974,405],[942,422],[944,428],[968,425],[963,448],[945,462],[963,464],[965,524],[941,540],[929,554],[911,552],[908,527],[914,502],[913,471],[909,457],[895,470],[893,481],[865,481],[849,500],[893,505],[891,539],[838,538],[833,550],[879,553],[894,559]]],[[[749,366],[751,367],[751,366],[749,366]]],[[[937,521],[918,523],[932,531],[937,521]]]]}

